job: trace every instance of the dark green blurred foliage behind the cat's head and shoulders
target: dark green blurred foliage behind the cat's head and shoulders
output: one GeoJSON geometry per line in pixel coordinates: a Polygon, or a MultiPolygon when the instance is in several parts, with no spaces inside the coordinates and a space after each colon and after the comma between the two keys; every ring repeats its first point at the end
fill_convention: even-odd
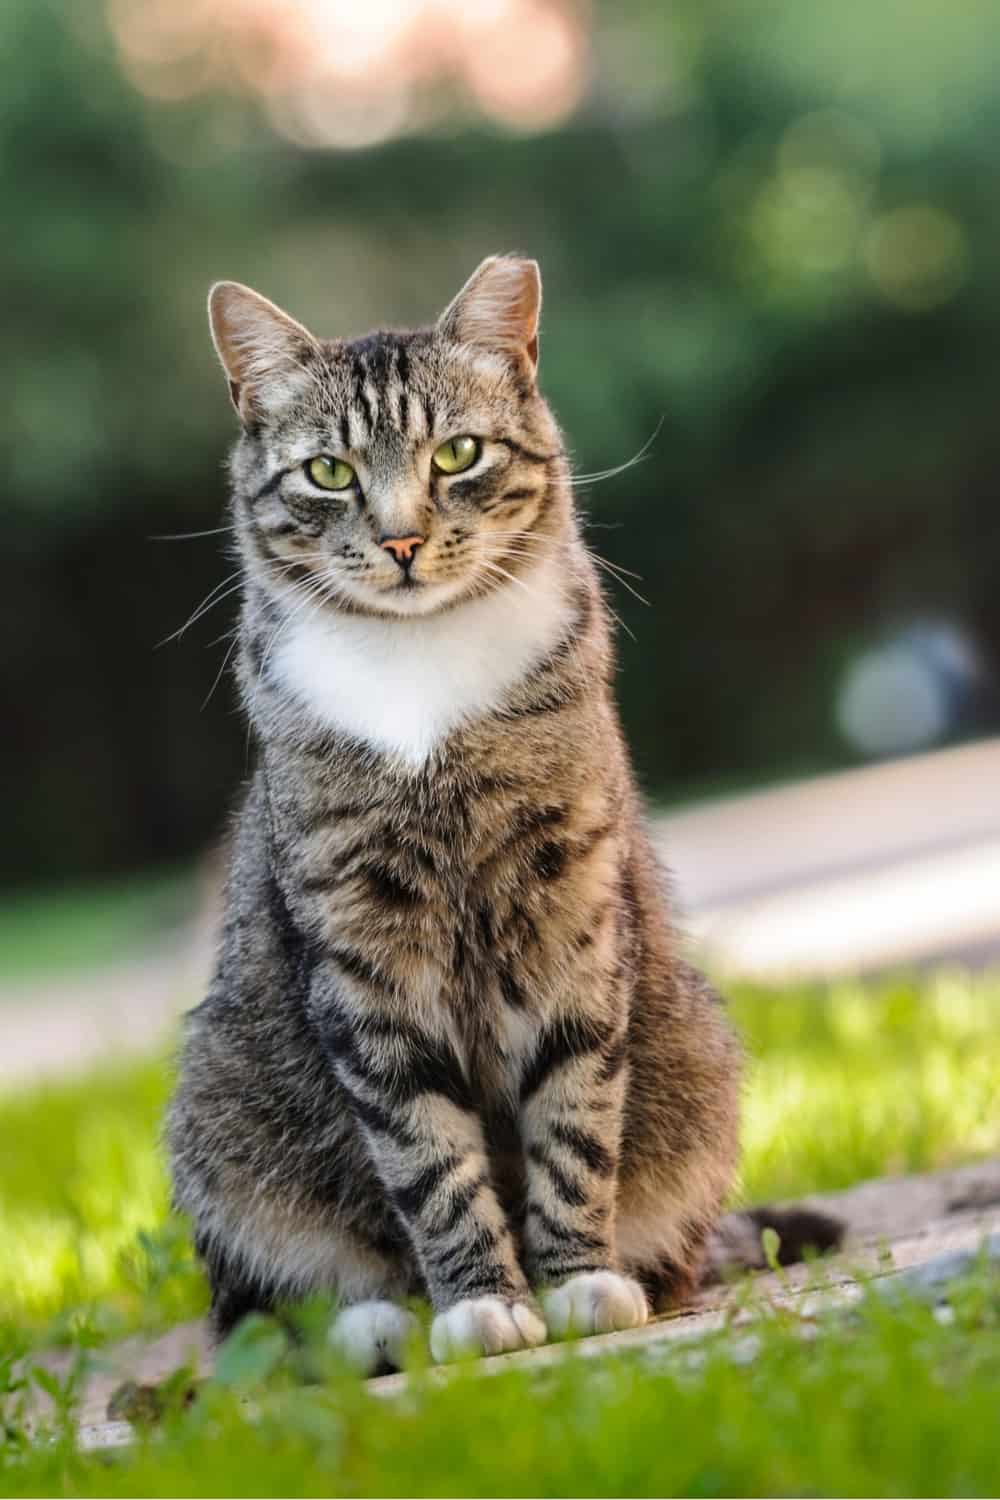
{"type": "Polygon", "coordinates": [[[543,382],[624,590],[640,771],[678,795],[837,764],[847,654],[913,612],[1000,651],[997,6],[604,0],[559,130],[460,112],[364,152],[237,94],[142,98],[90,0],[0,9],[6,878],[171,858],[244,766],[225,576],[219,276],[322,333],[543,262],[543,382]],[[604,528],[610,530],[604,530],[604,528]],[[213,621],[216,624],[213,624],[213,621]],[[210,642],[216,640],[214,645],[210,642]]]}

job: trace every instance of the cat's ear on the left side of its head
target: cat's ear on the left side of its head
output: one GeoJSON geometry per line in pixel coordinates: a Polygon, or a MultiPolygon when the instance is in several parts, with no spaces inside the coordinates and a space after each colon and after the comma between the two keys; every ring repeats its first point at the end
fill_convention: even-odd
{"type": "Polygon", "coordinates": [[[240,282],[216,282],[208,292],[208,324],[243,423],[294,396],[319,348],[309,328],[240,282]]]}

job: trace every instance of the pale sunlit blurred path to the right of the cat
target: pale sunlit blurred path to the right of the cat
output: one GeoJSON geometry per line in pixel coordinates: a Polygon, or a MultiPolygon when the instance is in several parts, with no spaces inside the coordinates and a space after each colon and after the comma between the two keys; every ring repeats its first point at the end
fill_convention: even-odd
{"type": "Polygon", "coordinates": [[[717,974],[825,978],[1000,958],[1000,738],[657,819],[717,974]]]}

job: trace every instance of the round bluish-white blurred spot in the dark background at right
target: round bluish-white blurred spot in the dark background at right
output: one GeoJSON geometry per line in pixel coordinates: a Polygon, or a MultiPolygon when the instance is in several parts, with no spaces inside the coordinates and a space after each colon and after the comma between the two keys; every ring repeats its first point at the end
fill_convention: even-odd
{"type": "Polygon", "coordinates": [[[922,750],[967,724],[982,678],[979,654],[958,626],[913,624],[850,663],[837,723],[862,754],[922,750]]]}

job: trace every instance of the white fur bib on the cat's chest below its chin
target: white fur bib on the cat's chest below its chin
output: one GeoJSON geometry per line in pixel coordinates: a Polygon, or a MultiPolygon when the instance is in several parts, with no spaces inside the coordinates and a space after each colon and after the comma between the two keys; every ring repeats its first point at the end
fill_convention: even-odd
{"type": "Polygon", "coordinates": [[[499,706],[558,644],[570,616],[553,560],[441,615],[313,616],[276,672],[325,726],[420,766],[462,723],[499,706]]]}

